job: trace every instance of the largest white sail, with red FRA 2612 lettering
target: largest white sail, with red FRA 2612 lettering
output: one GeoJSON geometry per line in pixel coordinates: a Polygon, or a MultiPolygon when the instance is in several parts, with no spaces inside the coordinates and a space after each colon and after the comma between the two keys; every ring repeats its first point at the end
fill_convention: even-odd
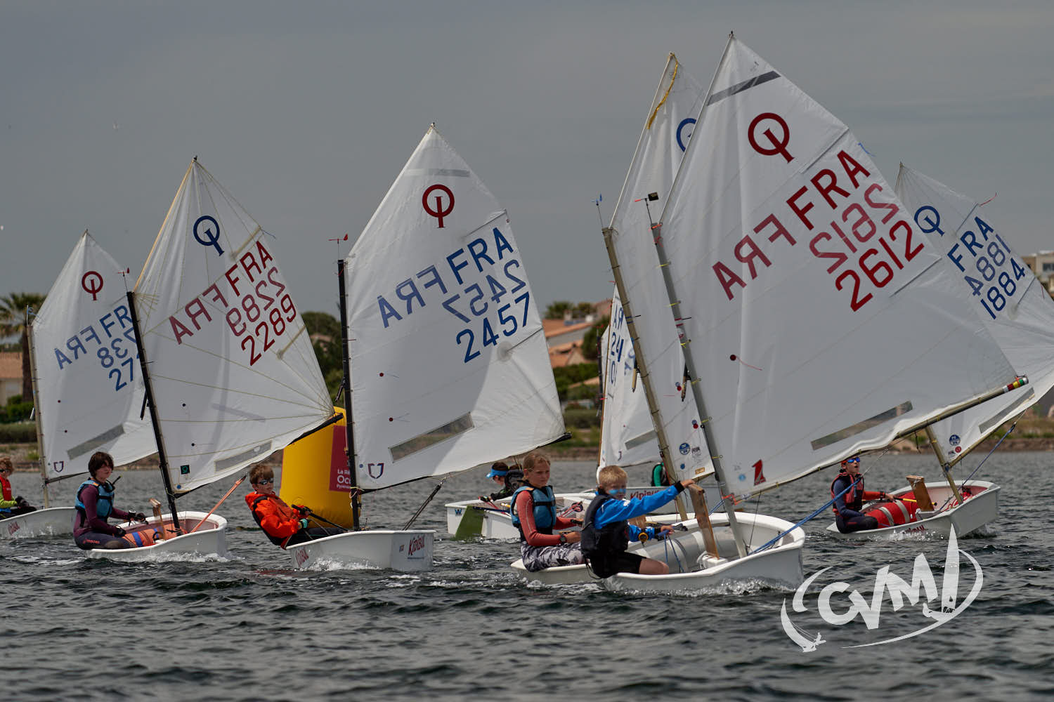
{"type": "Polygon", "coordinates": [[[884,446],[1014,379],[842,122],[736,39],[698,119],[660,236],[731,490],[884,446]]]}

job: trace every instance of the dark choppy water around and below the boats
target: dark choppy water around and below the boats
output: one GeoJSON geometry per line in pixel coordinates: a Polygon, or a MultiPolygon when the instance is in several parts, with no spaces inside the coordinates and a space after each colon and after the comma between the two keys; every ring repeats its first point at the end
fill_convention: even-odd
{"type": "MultiPolygon", "coordinates": [[[[963,477],[979,459],[968,459],[963,477]]],[[[476,469],[447,481],[417,526],[438,531],[435,567],[301,573],[255,529],[239,490],[220,509],[231,557],[121,564],[84,559],[72,540],[0,541],[7,699],[721,699],[865,698],[1027,700],[1054,695],[1054,561],[1048,506],[1054,455],[995,454],[977,478],[1002,486],[1000,518],[960,547],[983,569],[972,605],[951,622],[895,644],[846,648],[921,628],[918,606],[877,629],[860,618],[832,626],[819,587],[841,580],[870,602],[883,565],[911,580],[919,554],[941,585],[946,542],[841,542],[827,515],[806,525],[805,575],[833,565],[794,615],[826,643],[802,653],[783,633],[792,593],[765,587],[695,597],[617,595],[594,585],[530,588],[508,567],[513,542],[446,537],[443,504],[487,486],[476,469]],[[831,577],[828,577],[831,576],[831,577]],[[116,696],[116,697],[115,697],[116,696]]],[[[932,457],[864,459],[871,489],[907,474],[938,482],[932,457]]],[[[594,466],[557,463],[558,492],[592,484],[594,466]]],[[[160,497],[153,472],[123,474],[118,504],[160,497]]],[[[829,472],[765,496],[764,514],[794,520],[826,499],[829,472]]],[[[40,500],[39,479],[16,474],[40,500]]],[[[53,486],[72,503],[77,481],[53,486]]],[[[208,510],[229,485],[180,500],[208,510]]],[[[374,526],[399,527],[431,489],[421,481],[372,496],[374,526]]],[[[753,505],[752,505],[753,508],[753,505]]],[[[973,584],[963,559],[959,600],[973,584]]],[[[832,599],[848,606],[847,594],[832,599]]],[[[932,602],[935,606],[939,603],[932,602]]]]}

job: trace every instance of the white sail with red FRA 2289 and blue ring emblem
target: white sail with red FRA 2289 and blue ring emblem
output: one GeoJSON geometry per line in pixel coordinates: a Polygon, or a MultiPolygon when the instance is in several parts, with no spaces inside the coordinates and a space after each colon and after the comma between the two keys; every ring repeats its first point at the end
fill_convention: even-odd
{"type": "Polygon", "coordinates": [[[191,163],[135,287],[176,492],[262,460],[333,414],[276,244],[191,163]]]}

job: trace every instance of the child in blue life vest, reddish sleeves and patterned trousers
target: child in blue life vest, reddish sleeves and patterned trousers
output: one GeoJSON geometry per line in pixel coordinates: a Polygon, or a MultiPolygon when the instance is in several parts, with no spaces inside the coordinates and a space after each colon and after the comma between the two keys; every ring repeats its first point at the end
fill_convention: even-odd
{"type": "Polygon", "coordinates": [[[524,458],[525,483],[512,494],[512,525],[520,529],[520,556],[528,570],[582,563],[579,531],[561,531],[579,522],[557,516],[549,485],[549,459],[533,452],[524,458]]]}

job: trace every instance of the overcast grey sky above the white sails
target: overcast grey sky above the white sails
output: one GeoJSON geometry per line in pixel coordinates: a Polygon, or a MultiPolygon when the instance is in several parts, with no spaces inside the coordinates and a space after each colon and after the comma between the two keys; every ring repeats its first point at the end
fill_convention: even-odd
{"type": "Polygon", "coordinates": [[[89,229],[133,280],[191,159],[336,312],[357,237],[430,122],[508,209],[540,306],[612,284],[605,220],[669,52],[729,31],[903,161],[1054,248],[1054,2],[0,0],[0,294],[46,293],[89,229]],[[350,243],[350,242],[349,242],[350,243]],[[348,244],[340,253],[346,254],[348,244]]]}

